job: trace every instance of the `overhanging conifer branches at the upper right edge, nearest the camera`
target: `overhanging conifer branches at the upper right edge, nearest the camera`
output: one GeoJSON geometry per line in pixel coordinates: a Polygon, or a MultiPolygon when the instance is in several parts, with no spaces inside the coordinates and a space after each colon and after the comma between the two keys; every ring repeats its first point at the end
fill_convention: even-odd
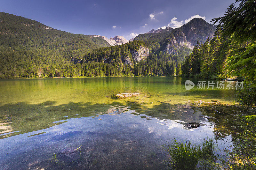
{"type": "Polygon", "coordinates": [[[244,77],[256,85],[256,2],[255,0],[236,0],[223,17],[214,18],[219,22],[224,37],[231,37],[237,44],[234,55],[228,58],[228,70],[231,74],[244,77]]]}

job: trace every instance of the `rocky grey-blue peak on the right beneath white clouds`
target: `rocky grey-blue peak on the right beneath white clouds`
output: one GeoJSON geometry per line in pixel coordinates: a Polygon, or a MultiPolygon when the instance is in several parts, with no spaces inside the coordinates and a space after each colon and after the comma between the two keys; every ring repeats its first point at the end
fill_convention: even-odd
{"type": "Polygon", "coordinates": [[[215,25],[207,23],[202,18],[194,18],[179,28],[152,29],[147,33],[139,34],[134,40],[145,41],[148,44],[158,43],[160,46],[158,51],[177,54],[181,47],[193,49],[197,40],[204,43],[208,37],[212,38],[215,30],[215,25]]]}

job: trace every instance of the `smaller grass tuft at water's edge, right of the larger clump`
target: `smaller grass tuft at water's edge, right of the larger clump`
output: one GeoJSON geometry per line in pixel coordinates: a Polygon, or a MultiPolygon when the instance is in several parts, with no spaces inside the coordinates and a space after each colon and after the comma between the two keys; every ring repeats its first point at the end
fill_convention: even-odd
{"type": "Polygon", "coordinates": [[[207,158],[209,156],[212,156],[215,149],[216,149],[216,145],[213,142],[213,139],[205,138],[204,142],[200,146],[201,157],[207,158]]]}

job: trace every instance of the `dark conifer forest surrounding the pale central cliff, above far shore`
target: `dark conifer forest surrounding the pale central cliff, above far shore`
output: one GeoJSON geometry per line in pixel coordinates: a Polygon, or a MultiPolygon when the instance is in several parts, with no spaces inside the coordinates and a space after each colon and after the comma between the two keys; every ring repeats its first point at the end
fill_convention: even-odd
{"type": "Polygon", "coordinates": [[[141,46],[148,46],[142,41],[131,41],[129,43],[106,48],[94,49],[85,55],[83,62],[85,76],[176,76],[181,74],[181,64],[185,56],[191,50],[182,47],[177,54],[166,54],[163,52],[154,54],[149,52],[145,60],[135,63],[132,59],[132,51],[141,46]],[[128,56],[131,65],[124,64],[123,56],[128,56]],[[107,67],[110,73],[104,67],[107,67]],[[95,72],[96,70],[96,72],[95,72]],[[90,74],[88,74],[88,72],[90,74]],[[102,74],[100,74],[102,72],[102,74]],[[107,72],[107,73],[106,73],[107,72]]]}

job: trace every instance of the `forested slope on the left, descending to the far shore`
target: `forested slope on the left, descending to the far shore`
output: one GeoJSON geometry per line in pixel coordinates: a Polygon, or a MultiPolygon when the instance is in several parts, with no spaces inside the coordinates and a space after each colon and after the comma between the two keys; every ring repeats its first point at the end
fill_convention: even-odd
{"type": "Polygon", "coordinates": [[[94,48],[109,46],[101,37],[72,34],[37,21],[0,12],[0,78],[73,75],[71,57],[83,58],[94,48]]]}

